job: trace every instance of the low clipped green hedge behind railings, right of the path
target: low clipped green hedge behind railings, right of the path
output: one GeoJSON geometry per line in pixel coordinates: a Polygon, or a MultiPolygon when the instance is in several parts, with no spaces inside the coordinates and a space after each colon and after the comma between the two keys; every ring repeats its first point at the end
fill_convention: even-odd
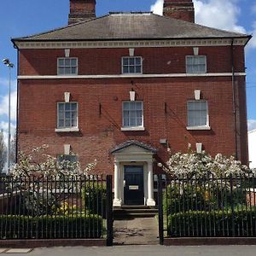
{"type": "Polygon", "coordinates": [[[168,236],[229,237],[256,236],[256,209],[177,212],[168,216],[168,236]]]}

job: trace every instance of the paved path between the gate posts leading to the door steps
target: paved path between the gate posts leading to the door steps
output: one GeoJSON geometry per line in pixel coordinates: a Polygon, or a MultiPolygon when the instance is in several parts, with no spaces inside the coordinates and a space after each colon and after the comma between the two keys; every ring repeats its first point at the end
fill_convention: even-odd
{"type": "Polygon", "coordinates": [[[158,222],[156,218],[133,218],[113,222],[114,244],[119,245],[156,245],[158,222]]]}

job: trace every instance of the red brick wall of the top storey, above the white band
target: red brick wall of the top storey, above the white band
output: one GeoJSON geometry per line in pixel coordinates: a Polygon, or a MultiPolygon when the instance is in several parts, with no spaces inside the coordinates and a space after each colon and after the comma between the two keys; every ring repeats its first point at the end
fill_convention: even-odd
{"type": "MultiPolygon", "coordinates": [[[[207,55],[207,73],[231,72],[230,46],[200,47],[200,55],[207,55]]],[[[121,57],[128,49],[71,49],[71,57],[79,57],[79,74],[120,74],[121,57]],[[110,57],[111,56],[111,57],[110,57]]],[[[137,48],[135,55],[143,57],[143,73],[186,73],[186,55],[194,55],[192,47],[137,48]]],[[[236,72],[244,72],[243,47],[234,48],[236,72]]],[[[56,75],[57,58],[64,57],[64,49],[22,49],[20,75],[56,75]]]]}

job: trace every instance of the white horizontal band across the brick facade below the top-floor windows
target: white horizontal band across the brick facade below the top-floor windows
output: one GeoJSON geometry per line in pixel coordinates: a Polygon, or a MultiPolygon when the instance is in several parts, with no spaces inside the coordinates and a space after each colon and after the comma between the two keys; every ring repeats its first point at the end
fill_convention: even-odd
{"type": "MultiPolygon", "coordinates": [[[[131,78],[191,78],[191,77],[231,77],[232,73],[160,73],[160,74],[115,74],[115,75],[72,75],[72,76],[18,76],[18,79],[131,79],[131,78]]],[[[246,76],[235,73],[235,76],[246,76]]]]}

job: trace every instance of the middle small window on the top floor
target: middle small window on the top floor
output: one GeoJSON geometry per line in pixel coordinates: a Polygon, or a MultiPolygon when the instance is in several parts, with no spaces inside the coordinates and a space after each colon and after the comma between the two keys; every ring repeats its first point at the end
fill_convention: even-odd
{"type": "Polygon", "coordinates": [[[142,57],[123,57],[122,58],[122,73],[143,73],[143,58],[142,57]]]}

